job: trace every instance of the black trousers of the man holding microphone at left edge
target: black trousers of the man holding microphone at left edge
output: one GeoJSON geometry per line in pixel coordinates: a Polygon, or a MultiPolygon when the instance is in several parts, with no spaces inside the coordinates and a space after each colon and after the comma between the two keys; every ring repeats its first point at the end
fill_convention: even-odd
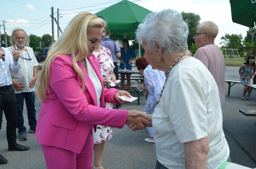
{"type": "Polygon", "coordinates": [[[16,144],[17,107],[12,85],[0,87],[0,130],[3,121],[3,111],[6,123],[8,146],[16,144]]]}

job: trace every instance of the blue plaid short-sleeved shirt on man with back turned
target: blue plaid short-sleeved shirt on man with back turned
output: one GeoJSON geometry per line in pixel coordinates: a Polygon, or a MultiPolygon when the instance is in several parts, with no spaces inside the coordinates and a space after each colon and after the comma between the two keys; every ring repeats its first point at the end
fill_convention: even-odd
{"type": "Polygon", "coordinates": [[[109,37],[104,37],[104,39],[101,42],[101,46],[104,46],[105,48],[108,48],[111,52],[113,62],[117,63],[117,52],[121,52],[120,47],[118,46],[116,41],[113,41],[109,37]]]}

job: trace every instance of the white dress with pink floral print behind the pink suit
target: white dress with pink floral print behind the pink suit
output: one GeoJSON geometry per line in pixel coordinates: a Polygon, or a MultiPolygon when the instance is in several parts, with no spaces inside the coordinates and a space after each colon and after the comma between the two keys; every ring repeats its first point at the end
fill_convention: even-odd
{"type": "MultiPolygon", "coordinates": [[[[110,50],[102,46],[102,49],[98,52],[94,51],[93,54],[97,58],[99,65],[101,67],[101,75],[107,79],[111,79],[112,72],[114,71],[114,62],[110,53],[110,50]]],[[[105,88],[109,88],[110,86],[104,86],[105,88]]],[[[112,103],[106,103],[106,109],[112,109],[112,103]]],[[[112,127],[107,127],[103,125],[97,125],[96,132],[93,130],[93,139],[94,143],[102,143],[107,141],[112,137],[112,127]]]]}

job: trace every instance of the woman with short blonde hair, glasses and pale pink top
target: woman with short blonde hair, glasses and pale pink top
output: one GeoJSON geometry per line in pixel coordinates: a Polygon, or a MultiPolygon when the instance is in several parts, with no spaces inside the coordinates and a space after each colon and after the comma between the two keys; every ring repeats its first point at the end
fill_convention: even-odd
{"type": "Polygon", "coordinates": [[[193,39],[199,49],[194,58],[199,59],[211,72],[217,83],[221,109],[225,106],[225,70],[224,56],[218,46],[214,45],[214,39],[218,35],[219,28],[212,21],[204,21],[197,26],[193,39]]]}

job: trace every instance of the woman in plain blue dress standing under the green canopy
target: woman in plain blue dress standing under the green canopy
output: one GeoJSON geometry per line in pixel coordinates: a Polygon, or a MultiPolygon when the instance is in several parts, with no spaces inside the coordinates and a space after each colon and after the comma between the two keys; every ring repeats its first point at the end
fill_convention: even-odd
{"type": "MultiPolygon", "coordinates": [[[[128,39],[124,39],[122,41],[123,48],[121,48],[121,57],[120,60],[120,69],[124,69],[124,65],[126,66],[126,69],[132,69],[132,63],[131,61],[136,59],[136,55],[134,53],[134,50],[130,47],[128,39]]],[[[127,86],[131,86],[131,74],[126,74],[127,79],[127,86]]],[[[125,84],[125,74],[121,74],[121,86],[125,84]]],[[[129,92],[129,89],[127,91],[129,92]]]]}

